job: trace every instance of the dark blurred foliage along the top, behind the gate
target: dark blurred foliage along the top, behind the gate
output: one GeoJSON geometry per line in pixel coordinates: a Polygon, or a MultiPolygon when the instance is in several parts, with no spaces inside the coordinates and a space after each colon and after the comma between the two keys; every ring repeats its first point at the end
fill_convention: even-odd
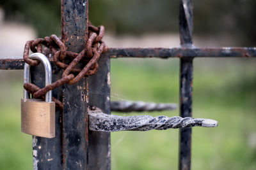
{"type": "MultiPolygon", "coordinates": [[[[194,2],[195,34],[229,35],[241,46],[256,46],[256,1],[194,2]]],[[[60,0],[0,0],[6,19],[34,25],[39,37],[60,34],[60,0]]],[[[178,0],[93,0],[89,17],[95,25],[105,25],[116,33],[178,32],[178,0]]]]}

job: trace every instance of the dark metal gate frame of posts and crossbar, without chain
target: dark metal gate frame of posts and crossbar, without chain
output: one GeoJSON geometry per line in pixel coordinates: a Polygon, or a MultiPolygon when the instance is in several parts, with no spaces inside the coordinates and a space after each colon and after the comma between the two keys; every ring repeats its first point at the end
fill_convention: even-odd
{"type": "MultiPolygon", "coordinates": [[[[67,50],[80,52],[88,36],[88,0],[62,0],[61,36],[67,50]]],[[[99,71],[83,78],[77,85],[64,85],[53,90],[63,100],[63,113],[56,111],[56,138],[33,137],[35,169],[111,169],[110,134],[88,129],[88,106],[110,113],[109,59],[116,57],[179,57],[180,117],[192,116],[192,82],[194,57],[255,57],[256,48],[193,46],[192,0],[180,0],[179,48],[109,48],[99,60],[99,71]],[[93,93],[100,91],[100,94],[93,93]]],[[[53,81],[61,78],[61,69],[54,66],[53,81]]],[[[23,69],[22,57],[0,59],[0,69],[23,69]]],[[[31,81],[43,86],[42,66],[31,67],[31,81]]],[[[180,129],[179,169],[191,168],[191,127],[180,129]]]]}

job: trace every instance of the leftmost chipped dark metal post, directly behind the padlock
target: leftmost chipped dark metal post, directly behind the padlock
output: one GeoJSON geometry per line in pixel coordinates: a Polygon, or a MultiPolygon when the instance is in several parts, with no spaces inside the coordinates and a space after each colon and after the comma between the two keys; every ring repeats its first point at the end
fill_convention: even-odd
{"type": "MultiPolygon", "coordinates": [[[[52,81],[61,78],[61,69],[52,64],[52,81]]],[[[38,87],[45,86],[45,71],[42,64],[31,66],[31,82],[38,87]]],[[[52,90],[52,96],[62,100],[62,88],[52,90]]],[[[33,165],[34,169],[63,169],[62,167],[62,120],[61,111],[55,112],[55,138],[40,138],[33,136],[33,165]]]]}

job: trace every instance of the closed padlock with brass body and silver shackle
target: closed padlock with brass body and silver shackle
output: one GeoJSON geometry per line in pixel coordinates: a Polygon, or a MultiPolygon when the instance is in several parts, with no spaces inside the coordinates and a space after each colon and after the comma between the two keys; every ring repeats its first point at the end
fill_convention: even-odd
{"type": "MultiPolygon", "coordinates": [[[[30,59],[40,60],[45,69],[45,86],[52,82],[51,63],[42,53],[33,53],[30,59]]],[[[24,83],[30,80],[30,66],[24,65],[24,83]]],[[[55,137],[55,103],[52,102],[52,91],[45,94],[45,101],[29,99],[24,89],[24,99],[21,99],[21,131],[26,134],[44,138],[55,137]]]]}

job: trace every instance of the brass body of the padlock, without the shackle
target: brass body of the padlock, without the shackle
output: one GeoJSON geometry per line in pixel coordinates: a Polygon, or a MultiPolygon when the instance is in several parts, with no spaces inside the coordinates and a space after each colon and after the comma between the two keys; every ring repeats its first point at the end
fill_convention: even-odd
{"type": "Polygon", "coordinates": [[[21,131],[44,138],[55,137],[55,103],[21,99],[21,131]]]}

